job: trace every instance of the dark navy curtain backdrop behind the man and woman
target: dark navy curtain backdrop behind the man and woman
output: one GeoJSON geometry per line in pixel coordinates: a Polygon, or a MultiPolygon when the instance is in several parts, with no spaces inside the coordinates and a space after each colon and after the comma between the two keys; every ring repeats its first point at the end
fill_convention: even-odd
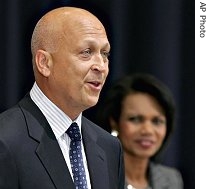
{"type": "MultiPolygon", "coordinates": [[[[0,2],[0,111],[34,82],[30,38],[35,23],[60,6],[86,8],[103,22],[112,45],[110,74],[101,94],[122,75],[147,72],[172,90],[176,130],[164,163],[178,168],[185,189],[195,188],[195,32],[191,0],[7,0],[0,2]]],[[[97,106],[84,112],[95,121],[97,106]]],[[[104,128],[106,129],[106,128],[104,128]]]]}

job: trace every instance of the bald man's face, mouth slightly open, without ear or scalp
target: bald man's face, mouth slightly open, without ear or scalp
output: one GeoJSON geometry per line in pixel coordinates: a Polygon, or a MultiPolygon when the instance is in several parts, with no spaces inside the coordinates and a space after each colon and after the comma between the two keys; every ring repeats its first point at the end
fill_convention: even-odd
{"type": "Polygon", "coordinates": [[[62,44],[51,53],[50,90],[55,104],[81,112],[94,106],[108,75],[110,45],[98,23],[65,26],[62,44]]]}

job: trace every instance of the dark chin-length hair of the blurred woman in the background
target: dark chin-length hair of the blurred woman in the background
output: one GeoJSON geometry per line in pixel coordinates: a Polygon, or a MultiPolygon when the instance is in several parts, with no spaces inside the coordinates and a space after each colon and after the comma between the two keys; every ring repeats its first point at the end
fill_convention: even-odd
{"type": "MultiPolygon", "coordinates": [[[[136,92],[153,96],[165,113],[167,131],[160,152],[165,147],[174,127],[175,102],[168,87],[152,75],[135,73],[120,78],[105,95],[102,107],[98,111],[98,123],[111,132],[110,118],[119,123],[122,102],[129,94],[136,92]]],[[[157,154],[159,153],[156,153],[152,159],[156,159],[157,154]]]]}

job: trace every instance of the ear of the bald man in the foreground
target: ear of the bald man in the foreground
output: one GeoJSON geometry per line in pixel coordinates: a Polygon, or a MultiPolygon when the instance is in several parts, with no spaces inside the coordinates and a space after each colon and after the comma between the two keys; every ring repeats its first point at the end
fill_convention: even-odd
{"type": "Polygon", "coordinates": [[[38,50],[35,57],[35,64],[38,72],[44,77],[49,77],[50,68],[52,65],[52,58],[50,53],[44,50],[38,50]]]}

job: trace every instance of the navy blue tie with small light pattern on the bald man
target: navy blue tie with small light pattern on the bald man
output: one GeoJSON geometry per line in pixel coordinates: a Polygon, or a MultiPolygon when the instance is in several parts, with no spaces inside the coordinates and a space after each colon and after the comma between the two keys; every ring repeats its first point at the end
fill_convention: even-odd
{"type": "Polygon", "coordinates": [[[71,138],[70,162],[76,189],[88,189],[82,158],[81,134],[77,123],[72,123],[66,133],[71,138]]]}

